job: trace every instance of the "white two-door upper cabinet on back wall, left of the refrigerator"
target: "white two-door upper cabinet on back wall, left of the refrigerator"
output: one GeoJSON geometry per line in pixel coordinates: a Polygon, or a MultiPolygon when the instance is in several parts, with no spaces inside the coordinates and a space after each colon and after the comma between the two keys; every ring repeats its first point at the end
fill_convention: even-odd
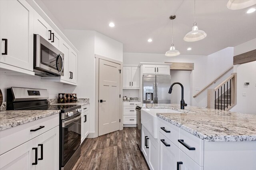
{"type": "Polygon", "coordinates": [[[140,88],[140,67],[123,67],[123,88],[140,88]]]}

